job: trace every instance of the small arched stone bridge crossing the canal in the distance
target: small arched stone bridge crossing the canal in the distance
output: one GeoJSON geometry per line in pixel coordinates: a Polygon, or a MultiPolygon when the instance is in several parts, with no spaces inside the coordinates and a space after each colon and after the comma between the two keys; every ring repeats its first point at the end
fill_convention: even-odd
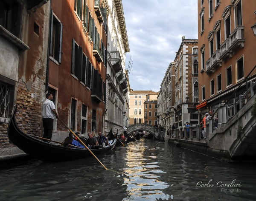
{"type": "Polygon", "coordinates": [[[160,129],[158,129],[157,127],[154,127],[154,126],[151,126],[151,125],[148,125],[148,124],[134,124],[134,125],[131,125],[131,126],[127,127],[127,133],[128,134],[133,133],[137,130],[145,130],[148,133],[151,133],[152,135],[154,135],[154,137],[156,139],[159,139],[160,129]]]}

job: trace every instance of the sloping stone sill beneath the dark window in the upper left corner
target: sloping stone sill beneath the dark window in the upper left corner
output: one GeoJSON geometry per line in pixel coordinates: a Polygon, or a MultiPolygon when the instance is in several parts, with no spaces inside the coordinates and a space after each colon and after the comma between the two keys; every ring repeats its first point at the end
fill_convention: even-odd
{"type": "Polygon", "coordinates": [[[29,46],[26,45],[22,40],[17,38],[15,35],[13,35],[11,32],[6,30],[3,26],[0,25],[0,35],[4,37],[6,40],[11,42],[13,45],[15,45],[21,52],[26,51],[29,49],[29,46]]]}

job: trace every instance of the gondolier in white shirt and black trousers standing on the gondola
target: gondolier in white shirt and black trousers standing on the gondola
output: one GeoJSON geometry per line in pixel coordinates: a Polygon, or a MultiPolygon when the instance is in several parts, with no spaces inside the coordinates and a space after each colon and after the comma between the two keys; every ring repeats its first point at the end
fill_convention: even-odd
{"type": "Polygon", "coordinates": [[[46,94],[46,100],[43,103],[43,125],[44,125],[44,135],[43,138],[52,139],[52,130],[53,130],[53,119],[54,115],[58,119],[58,114],[55,110],[55,105],[52,102],[53,95],[52,93],[46,94]]]}

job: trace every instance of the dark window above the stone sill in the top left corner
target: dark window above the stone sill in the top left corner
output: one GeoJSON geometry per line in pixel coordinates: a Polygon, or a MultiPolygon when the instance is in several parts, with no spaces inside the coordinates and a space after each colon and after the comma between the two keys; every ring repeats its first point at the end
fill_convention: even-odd
{"type": "Polygon", "coordinates": [[[20,37],[21,5],[16,0],[0,1],[0,25],[20,37]]]}

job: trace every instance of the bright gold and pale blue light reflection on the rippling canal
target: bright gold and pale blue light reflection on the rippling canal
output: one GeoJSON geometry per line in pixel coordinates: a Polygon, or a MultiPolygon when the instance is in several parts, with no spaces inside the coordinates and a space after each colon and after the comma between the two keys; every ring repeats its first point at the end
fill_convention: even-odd
{"type": "Polygon", "coordinates": [[[169,184],[160,181],[160,174],[165,172],[159,170],[159,163],[156,161],[157,156],[154,155],[154,150],[157,150],[157,147],[151,147],[150,151],[146,151],[146,149],[148,147],[140,144],[127,147],[127,154],[124,158],[127,168],[122,169],[122,171],[127,176],[124,184],[127,185],[128,197],[123,198],[123,201],[156,201],[173,198],[172,195],[162,191],[168,188],[169,184]]]}

